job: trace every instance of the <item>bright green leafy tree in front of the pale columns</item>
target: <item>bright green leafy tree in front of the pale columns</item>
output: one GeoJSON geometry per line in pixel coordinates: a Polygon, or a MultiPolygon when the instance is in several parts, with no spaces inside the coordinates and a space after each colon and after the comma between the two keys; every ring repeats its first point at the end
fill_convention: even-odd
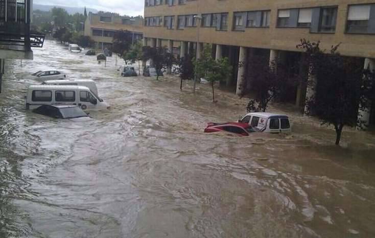
{"type": "Polygon", "coordinates": [[[215,103],[215,82],[225,81],[231,75],[232,66],[229,64],[228,58],[223,57],[219,60],[215,60],[212,57],[211,48],[206,46],[204,47],[201,58],[194,60],[194,65],[196,66],[196,74],[203,76],[211,83],[212,99],[215,103]]]}

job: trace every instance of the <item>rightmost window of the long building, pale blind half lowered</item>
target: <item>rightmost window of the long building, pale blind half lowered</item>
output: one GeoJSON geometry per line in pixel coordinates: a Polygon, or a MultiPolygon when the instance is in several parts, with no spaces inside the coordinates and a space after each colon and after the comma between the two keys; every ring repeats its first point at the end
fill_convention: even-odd
{"type": "Polygon", "coordinates": [[[371,5],[349,6],[346,31],[348,33],[368,33],[370,10],[371,5]]]}

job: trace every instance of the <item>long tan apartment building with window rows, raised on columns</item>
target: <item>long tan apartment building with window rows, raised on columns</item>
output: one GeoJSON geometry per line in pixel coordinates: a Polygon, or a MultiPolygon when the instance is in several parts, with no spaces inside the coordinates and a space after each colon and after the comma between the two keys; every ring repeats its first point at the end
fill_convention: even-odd
{"type": "MultiPolygon", "coordinates": [[[[229,85],[237,93],[245,72],[239,62],[265,54],[270,60],[293,56],[298,63],[296,45],[303,38],[321,41],[326,50],[341,43],[340,54],[361,57],[364,67],[375,69],[373,0],[146,0],[144,24],[144,44],[179,45],[180,56],[198,49],[199,57],[203,43],[213,44],[216,58],[228,57],[233,65],[229,85]]],[[[291,95],[303,106],[313,93],[297,87],[291,95]]],[[[375,123],[375,106],[362,113],[375,123]]]]}

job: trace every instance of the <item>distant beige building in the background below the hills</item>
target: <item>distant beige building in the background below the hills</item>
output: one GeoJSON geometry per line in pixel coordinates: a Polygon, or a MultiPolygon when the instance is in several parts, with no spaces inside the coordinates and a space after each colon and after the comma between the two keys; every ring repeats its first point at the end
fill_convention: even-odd
{"type": "Polygon", "coordinates": [[[85,21],[84,35],[90,36],[99,49],[110,49],[113,34],[116,31],[127,30],[133,33],[133,41],[143,38],[143,18],[125,17],[112,13],[89,12],[85,21]]]}

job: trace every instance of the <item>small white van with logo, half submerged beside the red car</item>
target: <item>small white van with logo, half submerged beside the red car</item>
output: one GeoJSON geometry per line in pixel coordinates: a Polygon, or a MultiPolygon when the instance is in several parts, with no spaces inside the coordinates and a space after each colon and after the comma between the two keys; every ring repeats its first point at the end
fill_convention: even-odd
{"type": "Polygon", "coordinates": [[[262,132],[268,133],[289,132],[291,130],[289,117],[282,114],[252,112],[245,115],[238,122],[249,124],[262,132]]]}

